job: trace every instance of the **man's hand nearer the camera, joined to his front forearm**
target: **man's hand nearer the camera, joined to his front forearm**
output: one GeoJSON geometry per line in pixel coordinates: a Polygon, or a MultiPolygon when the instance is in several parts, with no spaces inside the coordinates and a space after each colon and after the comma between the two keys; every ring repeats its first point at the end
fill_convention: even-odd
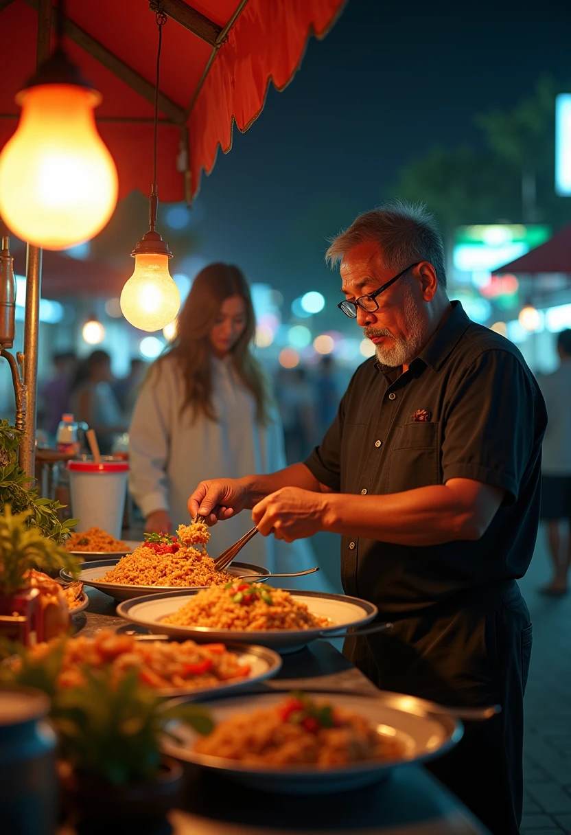
{"type": "Polygon", "coordinates": [[[304,539],[325,529],[328,498],[298,487],[284,487],[255,505],[252,519],[260,534],[275,539],[304,539]]]}

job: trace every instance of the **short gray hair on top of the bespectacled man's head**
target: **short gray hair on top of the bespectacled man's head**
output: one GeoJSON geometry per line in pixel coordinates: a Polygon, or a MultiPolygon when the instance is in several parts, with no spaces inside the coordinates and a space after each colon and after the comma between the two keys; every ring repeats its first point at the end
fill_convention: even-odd
{"type": "Polygon", "coordinates": [[[348,229],[330,240],[326,261],[331,267],[354,246],[376,240],[384,266],[395,272],[415,261],[428,261],[434,267],[438,284],[446,288],[442,235],[427,206],[393,200],[356,217],[348,229]]]}

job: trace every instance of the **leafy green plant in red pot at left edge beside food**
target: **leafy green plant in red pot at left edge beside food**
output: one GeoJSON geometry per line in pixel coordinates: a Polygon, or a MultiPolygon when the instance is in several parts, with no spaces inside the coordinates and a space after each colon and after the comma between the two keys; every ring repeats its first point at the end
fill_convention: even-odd
{"type": "Polygon", "coordinates": [[[9,504],[0,513],[0,634],[25,645],[48,640],[69,626],[67,605],[45,605],[39,590],[30,587],[28,570],[54,574],[66,569],[75,576],[79,567],[73,554],[46,539],[37,525],[29,526],[32,513],[13,514],[9,504]]]}

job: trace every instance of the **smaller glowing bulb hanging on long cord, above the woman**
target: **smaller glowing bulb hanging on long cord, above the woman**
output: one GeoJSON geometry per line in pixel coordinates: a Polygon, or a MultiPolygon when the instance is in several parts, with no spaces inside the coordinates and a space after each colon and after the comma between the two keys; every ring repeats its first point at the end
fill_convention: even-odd
{"type": "Polygon", "coordinates": [[[159,112],[159,64],[162,32],[166,15],[156,13],[159,27],[157,79],[154,88],[154,177],[149,197],[149,231],[135,245],[133,275],[121,291],[121,310],[127,321],[141,331],[159,331],[174,320],[180,307],[180,294],[169,273],[169,245],[155,230],[159,198],[157,196],[157,124],[159,112]]]}

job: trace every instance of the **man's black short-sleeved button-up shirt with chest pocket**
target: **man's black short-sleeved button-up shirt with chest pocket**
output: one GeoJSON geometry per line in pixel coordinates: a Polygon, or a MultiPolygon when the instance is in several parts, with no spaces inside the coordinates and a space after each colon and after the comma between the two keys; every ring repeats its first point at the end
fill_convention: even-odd
{"type": "Polygon", "coordinates": [[[417,546],[342,537],[346,594],[404,615],[522,577],[538,529],[546,424],[521,353],[470,321],[457,301],[407,372],[375,357],[364,362],[306,461],[322,484],[371,495],[472,478],[505,497],[478,540],[417,546]]]}

